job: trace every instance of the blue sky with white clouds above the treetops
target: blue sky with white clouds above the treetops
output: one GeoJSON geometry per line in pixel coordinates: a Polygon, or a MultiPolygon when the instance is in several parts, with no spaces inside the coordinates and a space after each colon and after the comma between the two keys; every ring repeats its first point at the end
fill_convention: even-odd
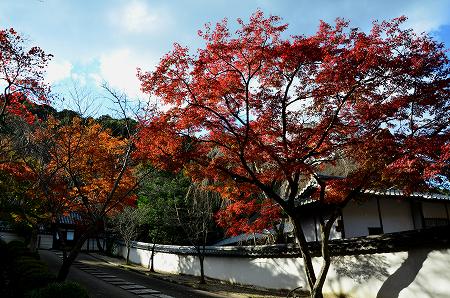
{"type": "Polygon", "coordinates": [[[67,94],[75,84],[96,93],[106,81],[144,99],[137,67],[153,69],[174,42],[195,50],[205,23],[226,17],[234,26],[258,8],[281,16],[290,35],[314,33],[321,19],[344,17],[368,30],[373,20],[406,15],[408,27],[450,45],[447,0],[0,0],[0,27],[13,27],[54,55],[47,80],[55,92],[67,94]]]}

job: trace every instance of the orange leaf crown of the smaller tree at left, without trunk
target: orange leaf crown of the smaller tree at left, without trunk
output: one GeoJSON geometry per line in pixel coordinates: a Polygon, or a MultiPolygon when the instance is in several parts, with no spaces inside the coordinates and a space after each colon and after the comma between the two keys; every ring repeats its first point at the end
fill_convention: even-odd
{"type": "Polygon", "coordinates": [[[67,125],[50,119],[34,131],[33,138],[36,148],[46,150],[45,156],[26,164],[35,175],[30,180],[44,178],[35,190],[43,199],[50,195],[63,204],[62,211],[77,211],[87,220],[134,203],[131,191],[136,181],[130,168],[123,169],[128,140],[112,137],[100,124],[80,118],[67,125]]]}

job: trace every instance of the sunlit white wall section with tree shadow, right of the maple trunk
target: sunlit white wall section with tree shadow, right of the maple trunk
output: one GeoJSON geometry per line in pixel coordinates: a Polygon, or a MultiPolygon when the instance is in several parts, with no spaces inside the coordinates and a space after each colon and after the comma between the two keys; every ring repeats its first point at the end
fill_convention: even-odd
{"type": "Polygon", "coordinates": [[[325,292],[355,298],[448,298],[449,266],[450,249],[339,257],[334,259],[325,292]],[[339,270],[345,266],[348,272],[339,270]]]}

